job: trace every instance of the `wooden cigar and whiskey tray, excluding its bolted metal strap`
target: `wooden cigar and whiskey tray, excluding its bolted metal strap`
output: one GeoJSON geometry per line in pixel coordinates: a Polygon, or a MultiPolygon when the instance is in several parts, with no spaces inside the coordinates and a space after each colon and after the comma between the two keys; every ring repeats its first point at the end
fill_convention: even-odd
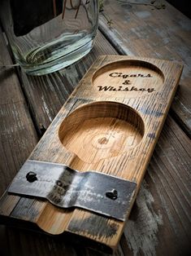
{"type": "MultiPolygon", "coordinates": [[[[28,159],[137,183],[131,208],[181,72],[181,64],[166,60],[100,56],[28,159]]],[[[116,249],[125,224],[89,210],[63,210],[46,200],[7,192],[0,204],[2,223],[77,236],[108,253],[116,249]]]]}

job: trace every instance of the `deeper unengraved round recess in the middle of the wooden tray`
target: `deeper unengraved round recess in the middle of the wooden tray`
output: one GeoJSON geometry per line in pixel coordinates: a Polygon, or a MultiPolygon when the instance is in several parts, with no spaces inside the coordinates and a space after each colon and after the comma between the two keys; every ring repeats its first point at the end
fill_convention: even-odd
{"type": "Polygon", "coordinates": [[[87,163],[127,152],[143,135],[144,123],[135,110],[106,101],[77,108],[59,127],[63,146],[87,163]]]}

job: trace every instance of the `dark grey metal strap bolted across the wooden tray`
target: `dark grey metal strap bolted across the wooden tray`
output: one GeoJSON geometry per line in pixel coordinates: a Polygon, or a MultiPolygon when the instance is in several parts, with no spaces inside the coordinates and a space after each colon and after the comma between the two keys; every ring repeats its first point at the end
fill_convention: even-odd
{"type": "Polygon", "coordinates": [[[79,172],[50,162],[28,160],[8,192],[46,198],[53,205],[79,207],[124,221],[137,183],[95,171],[79,172]]]}

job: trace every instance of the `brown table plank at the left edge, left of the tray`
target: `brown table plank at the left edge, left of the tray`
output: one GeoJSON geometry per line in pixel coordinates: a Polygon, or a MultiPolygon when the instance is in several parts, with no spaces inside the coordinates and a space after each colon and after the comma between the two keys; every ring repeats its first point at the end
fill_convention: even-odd
{"type": "MultiPolygon", "coordinates": [[[[12,64],[0,30],[0,64],[12,64]]],[[[37,143],[37,134],[28,113],[15,70],[0,70],[0,194],[23,165],[37,143]]]]}

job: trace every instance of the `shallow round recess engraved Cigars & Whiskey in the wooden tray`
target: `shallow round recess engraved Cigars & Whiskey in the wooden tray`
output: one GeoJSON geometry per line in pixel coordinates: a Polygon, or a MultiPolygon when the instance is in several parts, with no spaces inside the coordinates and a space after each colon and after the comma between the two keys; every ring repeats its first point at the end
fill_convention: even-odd
{"type": "Polygon", "coordinates": [[[141,60],[119,60],[99,68],[92,78],[98,94],[126,98],[151,95],[163,88],[163,72],[141,60]]]}

